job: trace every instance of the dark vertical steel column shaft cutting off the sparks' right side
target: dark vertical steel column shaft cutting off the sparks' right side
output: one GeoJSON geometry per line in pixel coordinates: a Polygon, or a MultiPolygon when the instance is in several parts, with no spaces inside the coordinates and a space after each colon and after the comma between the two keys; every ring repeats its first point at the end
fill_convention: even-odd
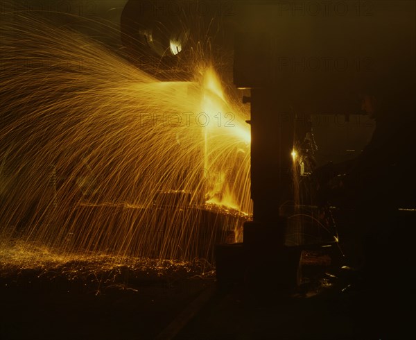
{"type": "Polygon", "coordinates": [[[251,196],[253,219],[276,225],[291,198],[293,114],[276,87],[251,90],[251,196]]]}

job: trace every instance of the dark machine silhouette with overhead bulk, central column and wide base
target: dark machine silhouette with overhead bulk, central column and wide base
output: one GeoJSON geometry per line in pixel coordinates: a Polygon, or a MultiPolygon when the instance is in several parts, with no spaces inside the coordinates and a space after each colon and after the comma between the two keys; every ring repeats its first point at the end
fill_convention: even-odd
{"type": "Polygon", "coordinates": [[[313,6],[308,1],[225,1],[225,8],[213,1],[204,15],[198,6],[188,6],[166,19],[168,5],[154,2],[130,0],[121,17],[122,34],[128,35],[124,44],[136,60],[150,52],[150,62],[164,65],[167,74],[173,60],[183,68],[189,51],[195,51],[190,46],[198,42],[196,33],[207,36],[198,32],[205,22],[216,28],[212,51],[232,56],[232,65],[225,67],[232,75],[225,78],[251,90],[243,101],[251,104],[253,220],[245,223],[243,244],[217,247],[218,282],[296,286],[302,247],[286,245],[288,220],[279,207],[292,199],[293,132],[309,124],[299,117],[360,113],[358,94],[397,78],[391,74],[401,65],[414,72],[415,33],[408,26],[414,7],[408,1],[313,6]],[[395,23],[394,35],[386,22],[395,23]]]}

